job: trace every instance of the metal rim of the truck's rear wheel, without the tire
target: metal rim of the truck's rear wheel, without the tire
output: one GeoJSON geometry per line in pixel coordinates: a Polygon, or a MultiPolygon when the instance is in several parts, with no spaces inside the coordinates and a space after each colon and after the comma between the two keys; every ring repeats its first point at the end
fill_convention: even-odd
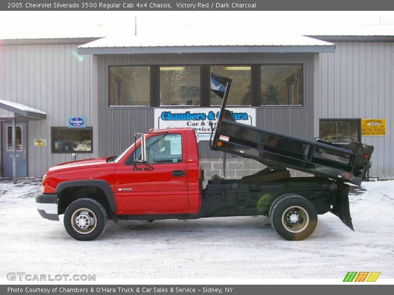
{"type": "Polygon", "coordinates": [[[308,212],[299,206],[288,207],[282,214],[282,225],[291,233],[300,233],[309,224],[308,212]]]}

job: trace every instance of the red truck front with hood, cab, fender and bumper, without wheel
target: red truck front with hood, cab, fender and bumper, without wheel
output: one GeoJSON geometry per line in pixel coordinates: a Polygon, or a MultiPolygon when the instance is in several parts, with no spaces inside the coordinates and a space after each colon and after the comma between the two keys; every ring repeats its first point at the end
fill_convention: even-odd
{"type": "Polygon", "coordinates": [[[113,211],[111,216],[198,213],[202,170],[195,130],[172,128],[144,134],[144,161],[141,139],[116,157],[50,168],[37,197],[38,212],[59,220],[58,213],[80,196],[93,196],[107,203],[103,205],[113,211]]]}

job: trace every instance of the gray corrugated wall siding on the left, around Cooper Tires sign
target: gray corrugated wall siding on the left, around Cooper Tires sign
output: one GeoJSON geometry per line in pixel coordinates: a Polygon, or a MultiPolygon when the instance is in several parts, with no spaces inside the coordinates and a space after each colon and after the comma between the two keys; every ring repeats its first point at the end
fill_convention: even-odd
{"type": "MultiPolygon", "coordinates": [[[[51,126],[67,126],[68,116],[86,116],[97,126],[97,85],[93,56],[75,56],[77,45],[0,46],[0,98],[47,113],[28,124],[28,175],[42,177],[48,167],[70,160],[70,154],[51,153],[51,126]],[[47,138],[48,147],[35,148],[34,137],[47,138]]],[[[94,129],[97,156],[98,131],[94,129]]]]}

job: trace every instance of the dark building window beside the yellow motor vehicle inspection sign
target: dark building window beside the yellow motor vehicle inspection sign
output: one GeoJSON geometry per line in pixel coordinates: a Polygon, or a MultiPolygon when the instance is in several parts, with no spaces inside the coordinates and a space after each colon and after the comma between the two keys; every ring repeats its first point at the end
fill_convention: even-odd
{"type": "Polygon", "coordinates": [[[360,142],[361,119],[320,119],[319,137],[330,143],[360,142]]]}

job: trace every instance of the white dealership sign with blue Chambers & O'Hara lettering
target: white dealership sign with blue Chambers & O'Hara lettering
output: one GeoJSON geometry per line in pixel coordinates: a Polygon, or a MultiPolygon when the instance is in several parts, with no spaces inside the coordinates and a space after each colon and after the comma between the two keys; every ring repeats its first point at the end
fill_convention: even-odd
{"type": "MultiPolygon", "coordinates": [[[[239,123],[256,126],[255,108],[228,108],[232,117],[239,123]]],[[[155,109],[155,128],[194,128],[198,133],[198,140],[209,140],[213,123],[215,128],[219,118],[219,108],[190,108],[190,109],[155,109]]]]}

